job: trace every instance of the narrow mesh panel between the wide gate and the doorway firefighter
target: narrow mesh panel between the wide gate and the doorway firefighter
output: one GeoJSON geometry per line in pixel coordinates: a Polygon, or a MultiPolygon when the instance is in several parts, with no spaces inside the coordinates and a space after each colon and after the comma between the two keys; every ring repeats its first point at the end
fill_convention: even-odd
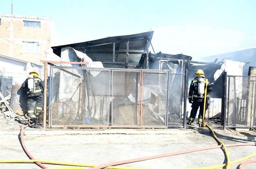
{"type": "Polygon", "coordinates": [[[182,122],[183,74],[169,74],[168,76],[168,102],[167,126],[180,127],[182,122]]]}

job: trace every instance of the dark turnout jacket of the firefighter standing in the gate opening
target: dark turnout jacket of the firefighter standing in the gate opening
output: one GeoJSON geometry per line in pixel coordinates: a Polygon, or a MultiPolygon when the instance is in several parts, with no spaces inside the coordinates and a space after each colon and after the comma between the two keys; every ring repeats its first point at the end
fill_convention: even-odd
{"type": "MultiPolygon", "coordinates": [[[[192,82],[190,84],[190,88],[189,88],[189,99],[193,99],[194,101],[202,102],[204,95],[199,95],[199,93],[198,93],[198,78],[203,78],[203,77],[196,77],[194,80],[192,80],[192,82]]],[[[204,80],[204,82],[205,82],[205,80],[204,80]]],[[[205,86],[204,86],[204,89],[205,89],[205,86]]],[[[208,82],[207,93],[206,93],[207,98],[210,97],[209,92],[211,92],[211,91],[212,91],[212,86],[208,82]]]]}

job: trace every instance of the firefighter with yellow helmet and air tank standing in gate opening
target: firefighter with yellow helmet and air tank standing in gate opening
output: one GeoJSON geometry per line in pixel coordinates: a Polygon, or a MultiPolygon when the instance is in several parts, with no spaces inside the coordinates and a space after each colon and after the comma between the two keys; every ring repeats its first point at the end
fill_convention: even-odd
{"type": "Polygon", "coordinates": [[[199,127],[202,126],[205,87],[207,87],[205,110],[208,109],[210,97],[209,92],[212,91],[212,86],[209,84],[209,82],[208,84],[205,83],[206,81],[203,70],[197,70],[195,73],[195,79],[192,80],[189,88],[189,103],[192,103],[192,110],[190,112],[189,121],[187,123],[188,125],[191,125],[191,123],[194,122],[197,110],[200,108],[198,123],[199,127]]]}

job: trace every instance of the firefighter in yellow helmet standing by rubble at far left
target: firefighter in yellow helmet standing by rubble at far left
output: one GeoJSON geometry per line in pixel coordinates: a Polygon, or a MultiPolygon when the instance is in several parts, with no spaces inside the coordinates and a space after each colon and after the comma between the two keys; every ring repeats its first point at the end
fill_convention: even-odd
{"type": "Polygon", "coordinates": [[[39,78],[37,71],[31,71],[29,77],[22,83],[28,98],[27,116],[35,122],[43,111],[44,82],[39,78]]]}

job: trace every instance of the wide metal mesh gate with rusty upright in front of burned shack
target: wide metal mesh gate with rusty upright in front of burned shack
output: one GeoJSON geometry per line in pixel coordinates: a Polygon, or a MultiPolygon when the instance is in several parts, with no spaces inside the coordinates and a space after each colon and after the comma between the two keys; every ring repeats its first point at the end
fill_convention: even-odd
{"type": "Polygon", "coordinates": [[[166,127],[168,71],[51,67],[49,126],[166,127]]]}

